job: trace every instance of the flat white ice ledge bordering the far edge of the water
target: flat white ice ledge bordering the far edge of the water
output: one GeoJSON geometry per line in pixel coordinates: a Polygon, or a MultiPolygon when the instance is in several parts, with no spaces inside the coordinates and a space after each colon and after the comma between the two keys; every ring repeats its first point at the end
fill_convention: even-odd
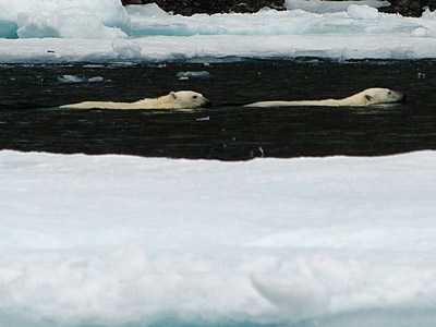
{"type": "Polygon", "coordinates": [[[155,36],[134,40],[16,39],[0,40],[0,62],[159,62],[292,59],[302,57],[348,59],[433,59],[436,39],[407,34],[287,35],[284,36],[155,36]],[[336,40],[331,43],[332,39],[336,40]],[[205,46],[207,44],[207,46],[205,46]],[[233,59],[232,59],[233,58],[233,59]]]}

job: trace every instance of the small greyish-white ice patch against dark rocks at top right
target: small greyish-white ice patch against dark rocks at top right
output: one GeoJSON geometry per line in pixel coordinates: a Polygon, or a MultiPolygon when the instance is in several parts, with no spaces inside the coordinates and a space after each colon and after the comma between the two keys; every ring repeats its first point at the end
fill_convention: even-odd
{"type": "Polygon", "coordinates": [[[370,5],[373,8],[389,7],[388,1],[322,1],[322,0],[286,0],[284,7],[288,10],[301,9],[314,13],[332,13],[347,11],[350,4],[370,5]]]}

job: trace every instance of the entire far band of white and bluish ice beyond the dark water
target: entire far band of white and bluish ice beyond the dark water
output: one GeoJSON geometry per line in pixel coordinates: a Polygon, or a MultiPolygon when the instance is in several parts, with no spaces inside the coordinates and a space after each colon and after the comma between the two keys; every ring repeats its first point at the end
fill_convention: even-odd
{"type": "Polygon", "coordinates": [[[0,62],[435,57],[434,12],[386,14],[377,1],[305,4],[289,0],[292,10],[283,12],[187,17],[156,4],[124,9],[119,0],[0,0],[0,62]]]}

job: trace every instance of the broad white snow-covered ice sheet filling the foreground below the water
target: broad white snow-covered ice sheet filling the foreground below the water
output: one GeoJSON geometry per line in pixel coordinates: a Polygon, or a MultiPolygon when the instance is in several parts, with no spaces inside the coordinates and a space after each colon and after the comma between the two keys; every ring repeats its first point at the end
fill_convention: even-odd
{"type": "Polygon", "coordinates": [[[0,325],[433,327],[435,165],[2,150],[0,325]]]}

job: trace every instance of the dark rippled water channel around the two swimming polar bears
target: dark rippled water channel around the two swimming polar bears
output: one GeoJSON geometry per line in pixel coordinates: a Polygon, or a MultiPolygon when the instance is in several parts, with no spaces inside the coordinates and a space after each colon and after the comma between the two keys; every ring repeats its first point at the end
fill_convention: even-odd
{"type": "Polygon", "coordinates": [[[223,160],[376,156],[436,148],[436,61],[324,60],[0,65],[0,148],[223,160]],[[179,80],[185,71],[208,77],[179,80]],[[63,75],[102,82],[64,83],[63,75]],[[341,98],[389,87],[408,102],[384,108],[241,108],[266,99],[341,98]],[[132,101],[203,93],[214,107],[44,109],[83,100],[132,101]],[[238,104],[238,105],[237,105],[238,104]]]}

